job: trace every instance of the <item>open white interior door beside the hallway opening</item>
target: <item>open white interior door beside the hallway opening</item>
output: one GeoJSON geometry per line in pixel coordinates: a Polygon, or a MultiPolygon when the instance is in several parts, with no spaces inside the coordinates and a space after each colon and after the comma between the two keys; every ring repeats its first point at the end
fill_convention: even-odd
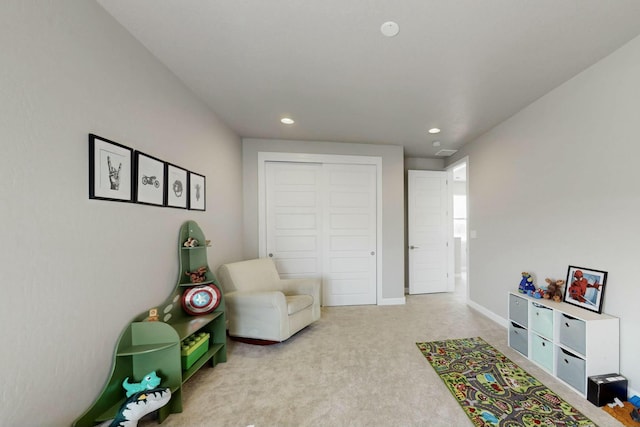
{"type": "Polygon", "coordinates": [[[409,293],[452,291],[447,173],[410,170],[408,198],[409,293]]]}

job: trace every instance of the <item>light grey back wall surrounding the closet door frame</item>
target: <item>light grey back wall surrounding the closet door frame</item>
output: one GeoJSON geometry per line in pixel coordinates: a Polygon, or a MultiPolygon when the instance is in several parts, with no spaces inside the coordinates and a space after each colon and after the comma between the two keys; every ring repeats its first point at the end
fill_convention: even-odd
{"type": "Polygon", "coordinates": [[[258,255],[258,153],[314,153],[382,157],[382,298],[404,298],[403,149],[393,145],[243,139],[244,250],[258,255]]]}

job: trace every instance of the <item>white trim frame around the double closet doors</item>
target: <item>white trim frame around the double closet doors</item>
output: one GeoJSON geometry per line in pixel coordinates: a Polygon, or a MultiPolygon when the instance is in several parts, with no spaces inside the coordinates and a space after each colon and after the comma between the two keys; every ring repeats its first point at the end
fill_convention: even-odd
{"type": "Polygon", "coordinates": [[[376,304],[382,298],[382,157],[340,154],[258,152],[258,256],[267,256],[266,162],[366,164],[376,167],[376,304]]]}

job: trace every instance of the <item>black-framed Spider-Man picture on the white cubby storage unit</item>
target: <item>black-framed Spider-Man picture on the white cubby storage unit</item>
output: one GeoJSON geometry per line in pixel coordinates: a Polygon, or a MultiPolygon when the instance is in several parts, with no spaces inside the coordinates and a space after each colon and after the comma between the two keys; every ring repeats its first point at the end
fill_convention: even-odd
{"type": "Polygon", "coordinates": [[[607,272],[570,265],[564,290],[564,302],[602,313],[607,272]]]}

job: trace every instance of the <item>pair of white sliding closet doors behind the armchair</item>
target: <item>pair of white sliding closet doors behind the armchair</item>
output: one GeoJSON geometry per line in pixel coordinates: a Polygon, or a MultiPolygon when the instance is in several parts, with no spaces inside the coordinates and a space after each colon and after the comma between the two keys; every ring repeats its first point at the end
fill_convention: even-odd
{"type": "Polygon", "coordinates": [[[323,305],[376,304],[376,167],[265,163],[266,243],[283,278],[322,277],[323,305]]]}

